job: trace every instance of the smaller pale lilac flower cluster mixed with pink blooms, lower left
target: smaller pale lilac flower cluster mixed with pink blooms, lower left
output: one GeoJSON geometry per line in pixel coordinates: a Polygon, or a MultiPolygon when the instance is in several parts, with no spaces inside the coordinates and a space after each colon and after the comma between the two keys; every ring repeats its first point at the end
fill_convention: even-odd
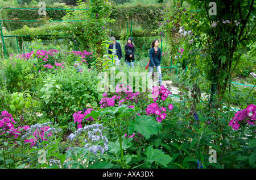
{"type": "Polygon", "coordinates": [[[46,138],[52,136],[51,131],[48,131],[48,129],[50,129],[48,124],[52,124],[52,122],[31,125],[31,127],[27,129],[27,133],[22,136],[22,139],[25,139],[24,143],[31,143],[32,147],[38,146],[42,141],[47,141],[48,139],[46,138]]]}

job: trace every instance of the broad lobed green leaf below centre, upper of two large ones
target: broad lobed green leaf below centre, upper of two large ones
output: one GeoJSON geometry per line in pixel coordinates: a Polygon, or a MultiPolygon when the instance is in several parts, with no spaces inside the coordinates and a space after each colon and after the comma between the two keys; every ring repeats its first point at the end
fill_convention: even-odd
{"type": "Polygon", "coordinates": [[[162,125],[151,116],[143,115],[143,116],[136,116],[135,122],[131,122],[128,127],[128,132],[139,132],[141,133],[146,139],[150,138],[150,135],[155,135],[159,131],[162,130],[162,125]]]}

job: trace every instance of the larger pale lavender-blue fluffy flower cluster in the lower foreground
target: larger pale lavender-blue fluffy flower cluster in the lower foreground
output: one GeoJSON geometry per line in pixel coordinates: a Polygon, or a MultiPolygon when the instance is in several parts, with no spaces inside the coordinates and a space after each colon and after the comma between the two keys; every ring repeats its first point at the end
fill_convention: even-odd
{"type": "Polygon", "coordinates": [[[68,136],[69,140],[73,141],[78,137],[82,132],[87,133],[86,139],[84,142],[84,148],[88,149],[89,152],[97,154],[98,151],[103,154],[108,151],[108,139],[102,135],[102,130],[104,127],[102,124],[92,124],[86,125],[84,128],[80,128],[71,135],[68,136]]]}

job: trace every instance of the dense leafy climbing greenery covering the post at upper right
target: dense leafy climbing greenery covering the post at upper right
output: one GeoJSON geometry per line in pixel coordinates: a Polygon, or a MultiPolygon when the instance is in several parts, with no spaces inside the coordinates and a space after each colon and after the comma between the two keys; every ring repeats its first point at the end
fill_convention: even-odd
{"type": "MultiPolygon", "coordinates": [[[[183,6],[186,5],[183,1],[176,1],[175,4],[168,1],[168,7],[179,8],[179,14],[171,15],[169,12],[166,16],[170,22],[167,26],[176,28],[169,34],[177,34],[179,28],[183,32],[191,30],[193,40],[190,39],[191,44],[183,40],[183,55],[191,55],[187,49],[201,49],[204,55],[209,55],[200,64],[203,64],[203,73],[211,82],[210,104],[214,105],[216,95],[222,102],[240,57],[248,51],[255,54],[256,49],[252,45],[256,41],[256,3],[254,0],[214,1],[213,4],[210,0],[186,2],[188,6],[183,6]]],[[[181,41],[179,39],[179,43],[181,41]]]]}

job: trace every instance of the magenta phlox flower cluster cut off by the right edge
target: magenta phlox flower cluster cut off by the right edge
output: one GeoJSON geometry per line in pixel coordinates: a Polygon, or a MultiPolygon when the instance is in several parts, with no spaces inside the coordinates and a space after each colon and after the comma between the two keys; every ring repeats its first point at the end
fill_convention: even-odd
{"type": "Polygon", "coordinates": [[[242,111],[238,111],[232,120],[230,120],[229,125],[233,129],[238,129],[240,126],[246,124],[255,125],[256,124],[256,105],[250,104],[242,111]]]}

